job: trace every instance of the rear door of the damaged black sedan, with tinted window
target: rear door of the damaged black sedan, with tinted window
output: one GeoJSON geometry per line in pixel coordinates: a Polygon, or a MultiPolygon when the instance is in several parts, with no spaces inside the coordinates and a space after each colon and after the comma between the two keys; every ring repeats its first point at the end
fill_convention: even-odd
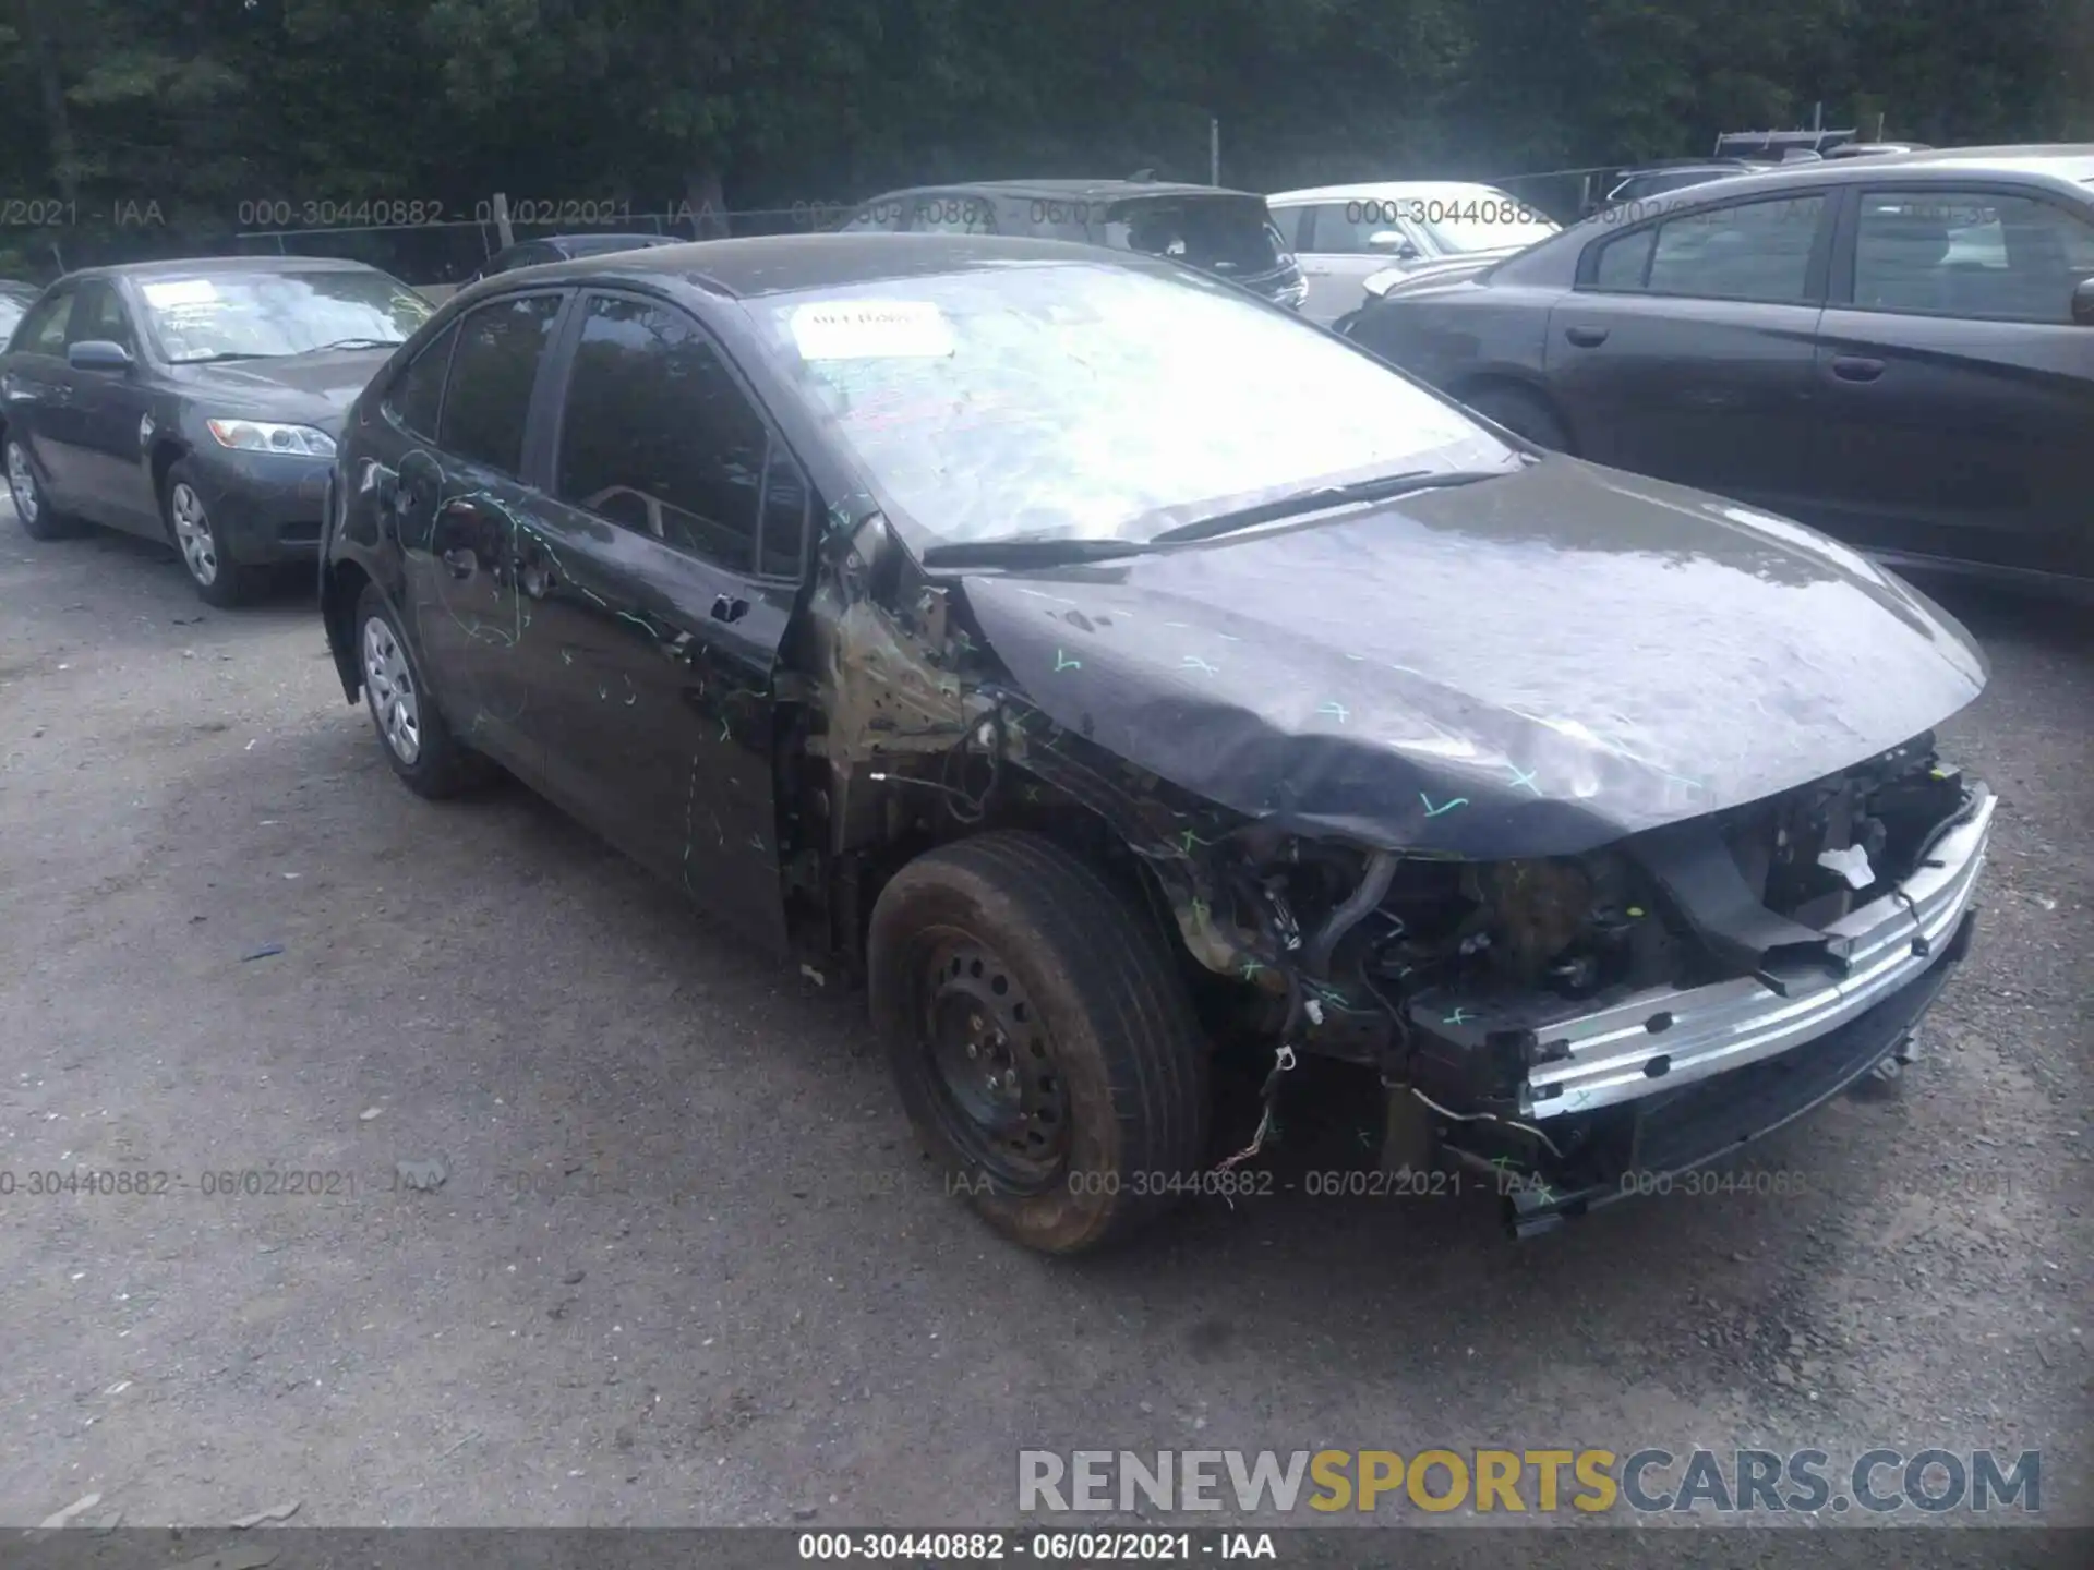
{"type": "Polygon", "coordinates": [[[534,289],[475,306],[442,345],[436,440],[400,454],[396,530],[423,680],[463,741],[534,775],[524,712],[530,611],[517,542],[544,498],[526,479],[528,431],[567,293],[534,289]]]}

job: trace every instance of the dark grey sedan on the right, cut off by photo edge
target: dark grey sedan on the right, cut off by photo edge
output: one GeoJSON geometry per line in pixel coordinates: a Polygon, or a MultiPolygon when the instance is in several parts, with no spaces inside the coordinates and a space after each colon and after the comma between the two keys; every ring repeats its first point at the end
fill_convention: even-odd
{"type": "Polygon", "coordinates": [[[2094,147],[1826,159],[1602,214],[1349,335],[1543,446],[1885,559],[2094,586],[2094,147]]]}

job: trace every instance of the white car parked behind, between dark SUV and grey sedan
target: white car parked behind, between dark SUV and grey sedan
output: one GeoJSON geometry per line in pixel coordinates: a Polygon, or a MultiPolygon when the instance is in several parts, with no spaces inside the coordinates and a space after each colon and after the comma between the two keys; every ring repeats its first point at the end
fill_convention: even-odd
{"type": "Polygon", "coordinates": [[[1369,276],[1401,278],[1447,264],[1497,260],[1560,224],[1497,186],[1384,180],[1282,190],[1265,199],[1279,239],[1300,260],[1302,312],[1334,322],[1363,299],[1369,276]]]}

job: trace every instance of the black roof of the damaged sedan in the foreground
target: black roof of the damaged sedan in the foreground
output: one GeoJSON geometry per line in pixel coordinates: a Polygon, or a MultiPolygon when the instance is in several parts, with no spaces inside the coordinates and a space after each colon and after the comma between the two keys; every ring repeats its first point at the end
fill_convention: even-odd
{"type": "MultiPolygon", "coordinates": [[[[1210,186],[1200,186],[1208,190],[1210,186]]],[[[976,272],[1011,262],[1064,266],[1141,268],[1183,276],[1168,262],[1137,253],[1099,251],[1072,241],[1034,241],[999,234],[756,234],[739,241],[685,241],[645,251],[609,251],[574,262],[549,262],[513,278],[681,281],[729,299],[758,299],[796,289],[833,289],[859,283],[894,283],[949,272],[976,272]]]]}

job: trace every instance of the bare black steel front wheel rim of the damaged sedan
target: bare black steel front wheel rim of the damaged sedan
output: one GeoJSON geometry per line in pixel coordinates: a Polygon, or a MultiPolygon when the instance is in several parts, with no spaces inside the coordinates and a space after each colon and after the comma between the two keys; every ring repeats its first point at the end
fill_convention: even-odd
{"type": "Polygon", "coordinates": [[[932,936],[923,1049],[946,1137],[999,1187],[1043,1193],[1068,1160],[1068,1080],[1039,1007],[988,944],[932,936]]]}

